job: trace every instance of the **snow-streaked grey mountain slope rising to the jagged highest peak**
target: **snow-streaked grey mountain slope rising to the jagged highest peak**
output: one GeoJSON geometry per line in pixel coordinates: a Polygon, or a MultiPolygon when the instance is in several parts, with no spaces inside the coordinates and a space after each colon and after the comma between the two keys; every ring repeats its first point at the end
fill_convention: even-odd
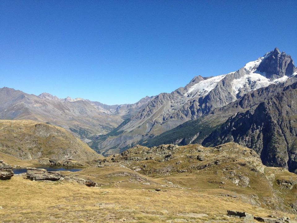
{"type": "Polygon", "coordinates": [[[207,115],[251,91],[282,83],[295,76],[296,71],[291,56],[276,48],[236,72],[207,78],[197,76],[183,88],[152,98],[130,121],[117,129],[117,134],[96,139],[98,142],[92,148],[105,154],[119,152],[120,147],[128,148],[139,139],[143,142],[186,121],[207,115]],[[129,140],[123,141],[127,136],[129,140]]]}

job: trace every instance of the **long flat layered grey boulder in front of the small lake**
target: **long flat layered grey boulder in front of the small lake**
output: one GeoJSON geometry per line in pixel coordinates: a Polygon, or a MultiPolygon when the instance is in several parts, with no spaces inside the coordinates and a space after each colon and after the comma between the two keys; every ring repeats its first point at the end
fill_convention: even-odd
{"type": "Polygon", "coordinates": [[[57,181],[64,177],[58,172],[49,172],[45,169],[27,168],[27,178],[30,180],[50,180],[57,181]]]}

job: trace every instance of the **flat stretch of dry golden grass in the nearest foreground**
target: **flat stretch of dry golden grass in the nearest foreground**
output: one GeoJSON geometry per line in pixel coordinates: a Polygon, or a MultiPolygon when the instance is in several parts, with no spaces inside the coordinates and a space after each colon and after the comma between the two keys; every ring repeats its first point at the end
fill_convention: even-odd
{"type": "MultiPolygon", "coordinates": [[[[0,222],[192,222],[222,220],[241,222],[223,216],[226,210],[246,211],[257,216],[288,216],[217,196],[219,190],[168,188],[154,191],[142,188],[90,188],[67,181],[30,181],[21,176],[0,181],[0,222]],[[180,214],[188,213],[181,216],[180,214]],[[209,216],[195,218],[191,213],[209,216]]],[[[291,218],[294,218],[291,215],[291,218]]]]}

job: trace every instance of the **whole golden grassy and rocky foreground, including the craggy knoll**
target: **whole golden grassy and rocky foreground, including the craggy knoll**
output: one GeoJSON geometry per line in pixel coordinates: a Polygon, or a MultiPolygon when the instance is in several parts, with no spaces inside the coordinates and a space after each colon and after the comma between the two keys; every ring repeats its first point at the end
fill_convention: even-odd
{"type": "Polygon", "coordinates": [[[92,162],[0,181],[0,222],[296,221],[297,176],[235,143],[135,146],[92,162]]]}

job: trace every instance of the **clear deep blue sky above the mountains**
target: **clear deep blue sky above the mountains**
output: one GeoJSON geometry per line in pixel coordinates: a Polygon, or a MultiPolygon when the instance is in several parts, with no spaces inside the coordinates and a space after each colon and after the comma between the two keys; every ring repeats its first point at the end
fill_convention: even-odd
{"type": "Polygon", "coordinates": [[[295,1],[0,1],[0,87],[106,104],[297,60],[295,1]]]}

